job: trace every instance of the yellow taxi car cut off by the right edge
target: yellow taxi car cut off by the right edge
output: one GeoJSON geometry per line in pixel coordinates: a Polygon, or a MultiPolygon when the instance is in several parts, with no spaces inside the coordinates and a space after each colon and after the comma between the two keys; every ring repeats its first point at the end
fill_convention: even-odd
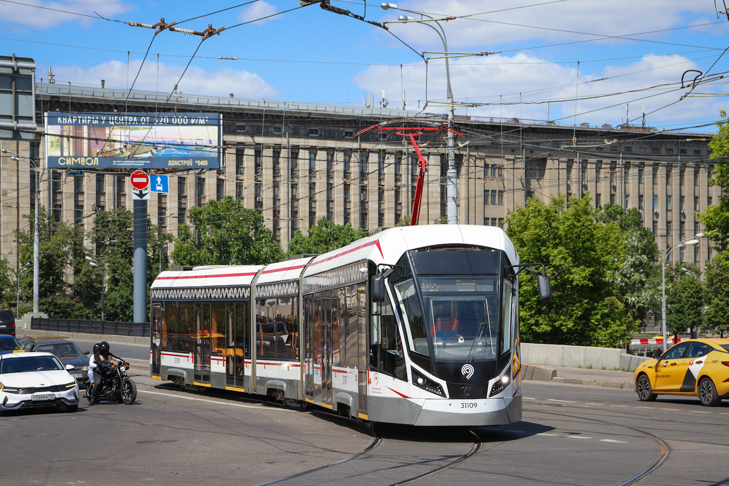
{"type": "Polygon", "coordinates": [[[642,401],[658,395],[698,396],[715,407],[729,398],[729,339],[685,340],[658,358],[643,361],[635,372],[635,391],[642,401]]]}

